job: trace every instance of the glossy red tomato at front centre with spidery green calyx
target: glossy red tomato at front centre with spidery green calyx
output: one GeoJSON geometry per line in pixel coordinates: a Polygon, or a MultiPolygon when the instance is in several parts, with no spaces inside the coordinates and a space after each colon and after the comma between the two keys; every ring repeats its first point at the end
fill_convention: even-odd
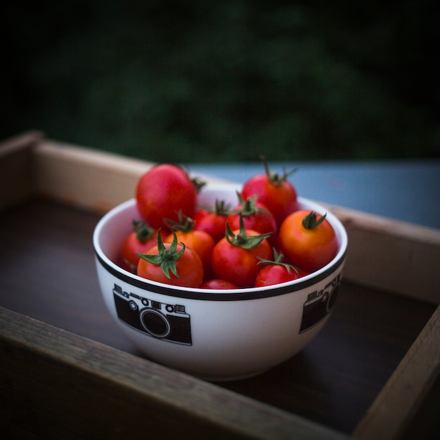
{"type": "Polygon", "coordinates": [[[226,225],[226,236],[212,251],[211,266],[216,278],[228,280],[238,287],[253,287],[259,271],[259,258],[272,259],[273,253],[267,235],[241,226],[240,230],[231,231],[226,225]]]}

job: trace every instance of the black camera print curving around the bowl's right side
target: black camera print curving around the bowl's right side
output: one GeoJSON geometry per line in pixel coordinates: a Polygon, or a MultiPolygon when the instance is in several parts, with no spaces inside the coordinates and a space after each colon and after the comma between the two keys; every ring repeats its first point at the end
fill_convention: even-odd
{"type": "Polygon", "coordinates": [[[309,330],[332,311],[341,278],[342,273],[339,272],[322,290],[315,290],[307,295],[307,301],[304,303],[302,312],[301,327],[299,328],[300,333],[309,330]]]}

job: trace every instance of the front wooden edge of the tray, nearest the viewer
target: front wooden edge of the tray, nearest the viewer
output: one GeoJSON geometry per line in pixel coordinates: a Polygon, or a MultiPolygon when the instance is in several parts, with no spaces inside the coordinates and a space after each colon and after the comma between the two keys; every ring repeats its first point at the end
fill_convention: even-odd
{"type": "MultiPolygon", "coordinates": [[[[179,438],[179,432],[203,440],[349,438],[315,422],[2,307],[0,353],[3,383],[0,396],[8,402],[2,420],[6,421],[6,428],[9,422],[11,429],[16,429],[14,418],[18,413],[34,413],[33,417],[20,420],[20,430],[23,435],[29,434],[29,438],[34,434],[35,417],[44,426],[46,438],[61,438],[57,437],[61,434],[69,438],[65,427],[90,419],[93,406],[103,406],[103,410],[93,410],[93,431],[99,433],[99,438],[105,435],[113,438],[115,429],[120,430],[119,438],[129,435],[137,438],[145,433],[153,438],[179,438]],[[14,384],[13,396],[8,393],[8,383],[14,384]],[[66,394],[74,386],[75,401],[82,405],[73,405],[66,394]],[[90,388],[96,396],[89,395],[90,388]],[[38,408],[27,408],[31,391],[38,408]],[[144,418],[147,410],[147,430],[142,420],[130,422],[136,417],[136,408],[143,410],[144,418]],[[63,425],[54,420],[63,420],[63,425]]],[[[82,429],[91,427],[84,425],[82,429]]],[[[81,434],[90,438],[93,431],[81,434]]]]}

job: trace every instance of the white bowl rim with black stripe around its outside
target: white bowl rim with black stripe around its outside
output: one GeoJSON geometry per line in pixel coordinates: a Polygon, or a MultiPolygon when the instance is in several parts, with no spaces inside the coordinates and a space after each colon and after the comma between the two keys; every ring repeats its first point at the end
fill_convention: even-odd
{"type": "MultiPolygon", "coordinates": [[[[232,188],[238,188],[238,186],[231,184],[209,184],[208,188],[211,190],[231,190],[232,188]]],[[[326,264],[322,268],[318,269],[318,271],[314,271],[307,276],[298,278],[297,280],[288,281],[286,283],[264,287],[244,287],[229,290],[202,289],[200,287],[181,287],[165,283],[157,283],[153,280],[147,280],[146,278],[142,278],[140,276],[134,275],[134,273],[126,271],[124,268],[115,264],[115,262],[108,258],[107,255],[105,255],[101,248],[99,239],[101,237],[101,233],[105,224],[107,224],[112,216],[115,216],[125,209],[132,208],[134,205],[136,205],[135,198],[131,198],[125,202],[122,202],[116,207],[110,209],[110,211],[108,211],[101,217],[93,231],[93,250],[97,263],[100,264],[112,276],[115,276],[119,280],[140,289],[148,290],[148,292],[155,292],[161,295],[172,297],[201,299],[208,301],[238,301],[245,299],[259,299],[286,295],[288,293],[303,290],[304,288],[314,285],[330,276],[331,273],[337,271],[337,268],[339,268],[339,266],[342,266],[342,264],[344,264],[345,256],[347,253],[347,231],[345,230],[339,219],[337,219],[334,214],[326,210],[322,205],[319,205],[313,200],[298,197],[298,202],[300,204],[308,205],[310,209],[313,209],[314,211],[321,214],[322,212],[327,212],[326,218],[330,221],[330,224],[332,224],[333,228],[337,229],[337,232],[340,235],[339,250],[332,261],[330,261],[330,263],[326,264]]],[[[307,209],[309,209],[309,207],[307,209]]]]}

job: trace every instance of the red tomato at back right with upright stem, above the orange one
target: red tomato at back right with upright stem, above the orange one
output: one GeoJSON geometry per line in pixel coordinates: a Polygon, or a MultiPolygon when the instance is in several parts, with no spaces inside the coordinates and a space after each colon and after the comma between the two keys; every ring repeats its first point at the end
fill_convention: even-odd
{"type": "Polygon", "coordinates": [[[270,172],[264,157],[262,160],[266,174],[257,174],[248,179],[242,186],[241,195],[246,199],[257,194],[257,200],[266,205],[279,226],[287,215],[297,209],[297,190],[287,180],[292,172],[283,172],[280,176],[270,172]]]}

